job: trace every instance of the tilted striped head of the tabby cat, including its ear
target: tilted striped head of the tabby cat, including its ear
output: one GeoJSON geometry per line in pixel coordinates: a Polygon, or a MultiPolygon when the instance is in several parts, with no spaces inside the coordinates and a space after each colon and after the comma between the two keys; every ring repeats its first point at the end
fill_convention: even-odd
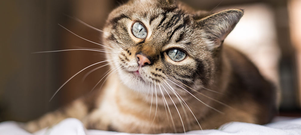
{"type": "Polygon", "coordinates": [[[108,17],[103,41],[115,54],[107,58],[135,90],[171,81],[212,85],[222,42],[242,15],[240,9],[194,12],[173,0],[130,0],[108,17]]]}

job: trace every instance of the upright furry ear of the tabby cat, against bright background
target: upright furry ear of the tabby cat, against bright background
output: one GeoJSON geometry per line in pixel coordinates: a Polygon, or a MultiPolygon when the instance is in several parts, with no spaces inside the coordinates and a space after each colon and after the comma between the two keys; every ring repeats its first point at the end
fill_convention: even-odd
{"type": "Polygon", "coordinates": [[[224,39],[234,29],[243,14],[244,10],[228,9],[206,17],[203,17],[204,14],[201,13],[200,17],[202,18],[196,18],[200,28],[205,30],[206,38],[213,41],[208,46],[209,49],[214,49],[223,43],[224,39]]]}

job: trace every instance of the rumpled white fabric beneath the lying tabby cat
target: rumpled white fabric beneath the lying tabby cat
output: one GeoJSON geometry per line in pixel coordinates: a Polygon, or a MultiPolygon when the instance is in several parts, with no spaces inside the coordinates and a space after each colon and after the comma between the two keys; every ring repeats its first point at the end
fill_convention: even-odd
{"type": "MultiPolygon", "coordinates": [[[[279,118],[278,118],[279,120],[279,118]]],[[[130,135],[100,130],[86,130],[78,119],[68,118],[59,124],[34,135],[130,135]]],[[[186,132],[187,135],[301,135],[301,118],[281,120],[267,125],[243,122],[230,122],[216,130],[198,130],[186,132]]],[[[1,122],[0,135],[33,135],[18,126],[17,122],[1,122]]],[[[162,134],[171,135],[171,134],[162,134]]],[[[184,135],[184,133],[178,134],[184,135]]]]}

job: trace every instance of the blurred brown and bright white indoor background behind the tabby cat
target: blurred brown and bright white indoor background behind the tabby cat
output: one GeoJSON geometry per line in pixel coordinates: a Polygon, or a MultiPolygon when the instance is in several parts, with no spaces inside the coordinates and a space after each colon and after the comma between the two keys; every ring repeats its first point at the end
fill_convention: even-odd
{"type": "MultiPolygon", "coordinates": [[[[104,60],[91,51],[38,53],[96,48],[101,34],[65,14],[102,29],[107,15],[126,0],[2,0],[0,14],[0,122],[25,122],[55,110],[91,91],[108,69],[79,73],[55,97],[65,81],[83,68],[104,60]]],[[[226,38],[247,54],[281,95],[280,116],[301,116],[301,0],[185,0],[212,12],[241,8],[245,15],[226,38]],[[281,91],[281,92],[280,92],[281,91]]],[[[280,96],[279,96],[280,97],[280,96]]]]}

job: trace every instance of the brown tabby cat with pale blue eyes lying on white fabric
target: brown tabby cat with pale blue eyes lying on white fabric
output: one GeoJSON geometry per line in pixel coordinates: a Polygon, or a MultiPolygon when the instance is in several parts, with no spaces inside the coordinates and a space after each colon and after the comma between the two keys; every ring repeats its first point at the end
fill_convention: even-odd
{"type": "Polygon", "coordinates": [[[175,0],[128,1],[109,14],[103,29],[112,63],[101,90],[25,129],[34,132],[68,117],[87,129],[143,134],[270,122],[273,84],[244,54],[223,44],[243,14],[196,11],[175,0]]]}

